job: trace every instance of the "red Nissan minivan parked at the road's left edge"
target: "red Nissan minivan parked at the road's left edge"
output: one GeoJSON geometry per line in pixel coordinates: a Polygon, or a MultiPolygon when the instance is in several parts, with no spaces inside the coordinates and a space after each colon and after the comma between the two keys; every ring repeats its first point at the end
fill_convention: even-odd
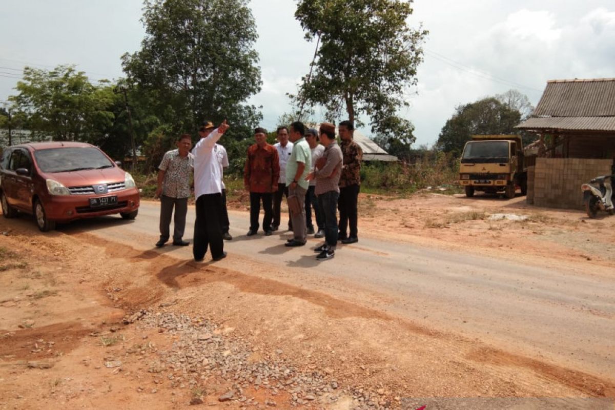
{"type": "Polygon", "coordinates": [[[132,176],[91,144],[29,143],[2,152],[2,214],[32,214],[41,231],[55,229],[56,222],[114,213],[134,219],[139,200],[132,176]]]}

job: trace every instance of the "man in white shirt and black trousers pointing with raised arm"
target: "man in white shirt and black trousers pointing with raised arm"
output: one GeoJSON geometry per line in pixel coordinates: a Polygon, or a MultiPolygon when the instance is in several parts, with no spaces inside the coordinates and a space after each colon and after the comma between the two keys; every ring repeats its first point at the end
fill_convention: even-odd
{"type": "Polygon", "coordinates": [[[216,142],[228,130],[226,120],[214,129],[212,122],[204,122],[199,128],[200,140],[192,149],[194,156],[194,197],[196,198],[196,221],[192,256],[200,262],[210,246],[212,259],[226,258],[222,237],[222,172],[220,159],[213,151],[216,142]]]}

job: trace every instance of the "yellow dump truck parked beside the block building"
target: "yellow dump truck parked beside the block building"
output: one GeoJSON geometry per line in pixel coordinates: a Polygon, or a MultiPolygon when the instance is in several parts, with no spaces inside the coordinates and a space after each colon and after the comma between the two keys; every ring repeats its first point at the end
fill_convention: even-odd
{"type": "Polygon", "coordinates": [[[466,195],[475,191],[503,192],[514,198],[517,189],[525,195],[528,173],[523,158],[523,143],[518,135],[472,135],[463,149],[459,165],[459,184],[466,195]]]}

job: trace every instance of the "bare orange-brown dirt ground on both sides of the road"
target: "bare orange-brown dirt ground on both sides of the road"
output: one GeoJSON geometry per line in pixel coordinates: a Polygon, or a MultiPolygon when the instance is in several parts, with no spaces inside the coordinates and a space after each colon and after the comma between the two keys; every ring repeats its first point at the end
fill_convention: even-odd
{"type": "MultiPolygon", "coordinates": [[[[614,217],[534,208],[525,197],[360,197],[360,227],[373,237],[597,275],[615,266],[614,226],[614,217]]],[[[615,397],[615,379],[325,293],[87,233],[43,235],[4,218],[0,289],[0,409],[403,408],[404,396],[615,397]],[[181,323],[168,316],[180,314],[181,323]],[[212,337],[224,347],[198,357],[208,367],[191,368],[194,355],[181,350],[203,354],[198,343],[212,337]]]]}

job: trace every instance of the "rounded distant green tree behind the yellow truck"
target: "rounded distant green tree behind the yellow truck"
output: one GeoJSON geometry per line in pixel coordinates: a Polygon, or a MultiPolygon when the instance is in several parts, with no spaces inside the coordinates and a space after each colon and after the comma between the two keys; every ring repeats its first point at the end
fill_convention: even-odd
{"type": "Polygon", "coordinates": [[[510,109],[493,97],[459,105],[442,127],[436,148],[458,156],[472,135],[518,133],[514,127],[520,119],[517,109],[510,109]]]}

